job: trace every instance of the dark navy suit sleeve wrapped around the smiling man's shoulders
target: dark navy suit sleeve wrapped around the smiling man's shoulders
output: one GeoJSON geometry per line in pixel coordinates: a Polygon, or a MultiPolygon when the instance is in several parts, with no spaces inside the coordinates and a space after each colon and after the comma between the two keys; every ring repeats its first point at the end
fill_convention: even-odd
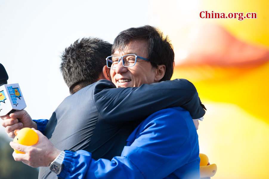
{"type": "Polygon", "coordinates": [[[193,119],[201,118],[205,114],[205,107],[196,88],[186,79],[143,84],[132,88],[115,88],[115,85],[107,80],[100,80],[95,85],[95,105],[108,123],[145,119],[161,109],[178,106],[189,111],[193,119]],[[106,89],[103,90],[104,88],[106,89]]]}

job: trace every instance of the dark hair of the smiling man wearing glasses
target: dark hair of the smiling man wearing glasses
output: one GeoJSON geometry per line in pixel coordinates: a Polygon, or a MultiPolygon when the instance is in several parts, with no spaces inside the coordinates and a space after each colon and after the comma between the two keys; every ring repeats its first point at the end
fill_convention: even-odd
{"type": "MultiPolygon", "coordinates": [[[[160,81],[170,80],[174,71],[174,50],[168,36],[163,37],[163,33],[159,29],[150,25],[129,28],[120,32],[115,38],[112,54],[116,50],[123,51],[132,40],[148,41],[148,59],[166,66],[165,74],[160,81]]],[[[152,67],[157,67],[154,62],[151,62],[152,67]]]]}

